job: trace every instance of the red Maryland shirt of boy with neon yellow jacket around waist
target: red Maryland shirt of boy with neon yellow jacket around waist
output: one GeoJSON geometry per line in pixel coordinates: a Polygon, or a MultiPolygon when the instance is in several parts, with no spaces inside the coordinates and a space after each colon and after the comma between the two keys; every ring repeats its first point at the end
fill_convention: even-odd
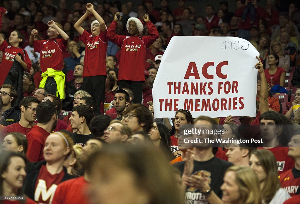
{"type": "Polygon", "coordinates": [[[35,52],[41,54],[42,72],[47,68],[62,70],[64,67],[64,58],[62,52],[67,49],[68,41],[61,39],[36,40],[33,42],[35,52]]]}

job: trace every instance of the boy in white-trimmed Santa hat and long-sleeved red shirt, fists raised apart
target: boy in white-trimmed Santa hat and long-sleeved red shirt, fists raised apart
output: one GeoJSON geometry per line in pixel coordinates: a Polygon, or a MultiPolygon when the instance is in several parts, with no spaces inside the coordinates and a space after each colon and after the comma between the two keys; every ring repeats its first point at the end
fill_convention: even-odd
{"type": "Polygon", "coordinates": [[[145,14],[143,19],[146,22],[145,25],[150,35],[140,36],[144,29],[143,22],[134,17],[129,18],[126,24],[130,36],[117,35],[117,22],[121,18],[120,13],[117,12],[107,31],[108,39],[121,48],[118,77],[119,89],[131,89],[134,92],[133,103],[142,103],[146,49],[158,39],[158,31],[149,20],[149,16],[145,14]]]}

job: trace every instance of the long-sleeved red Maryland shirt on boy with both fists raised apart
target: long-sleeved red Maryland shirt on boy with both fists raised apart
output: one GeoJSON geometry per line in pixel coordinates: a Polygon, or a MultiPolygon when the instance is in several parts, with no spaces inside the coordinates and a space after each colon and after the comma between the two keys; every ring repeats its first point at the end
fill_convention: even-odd
{"type": "Polygon", "coordinates": [[[121,47],[118,80],[145,81],[144,67],[147,48],[158,39],[155,25],[150,21],[145,25],[150,35],[143,37],[117,35],[116,21],[113,21],[108,28],[108,39],[121,47]]]}

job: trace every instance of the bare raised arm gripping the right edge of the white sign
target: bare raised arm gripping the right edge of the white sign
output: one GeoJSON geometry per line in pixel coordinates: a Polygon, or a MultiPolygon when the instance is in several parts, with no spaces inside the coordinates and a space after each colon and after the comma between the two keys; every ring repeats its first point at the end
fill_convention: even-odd
{"type": "Polygon", "coordinates": [[[259,112],[263,114],[267,112],[268,109],[268,82],[265,78],[265,72],[263,70],[263,65],[259,57],[256,56],[258,63],[256,63],[255,68],[258,69],[260,73],[260,97],[259,97],[259,112]]]}

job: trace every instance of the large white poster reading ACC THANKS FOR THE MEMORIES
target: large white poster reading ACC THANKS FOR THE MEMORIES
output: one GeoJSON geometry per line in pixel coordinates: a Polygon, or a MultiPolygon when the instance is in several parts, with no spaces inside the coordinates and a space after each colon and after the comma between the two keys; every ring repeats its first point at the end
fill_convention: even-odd
{"type": "Polygon", "coordinates": [[[175,36],[153,85],[155,118],[187,109],[196,118],[255,117],[259,52],[237,37],[175,36]]]}

